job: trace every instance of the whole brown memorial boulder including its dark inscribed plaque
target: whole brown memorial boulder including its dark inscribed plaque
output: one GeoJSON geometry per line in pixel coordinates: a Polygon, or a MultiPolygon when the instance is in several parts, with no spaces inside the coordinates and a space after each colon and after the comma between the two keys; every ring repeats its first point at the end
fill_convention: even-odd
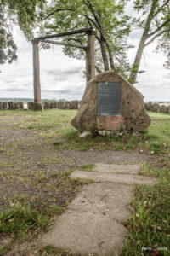
{"type": "Polygon", "coordinates": [[[99,73],[87,84],[77,116],[78,131],[144,131],[150,117],[144,96],[114,71],[99,73]]]}

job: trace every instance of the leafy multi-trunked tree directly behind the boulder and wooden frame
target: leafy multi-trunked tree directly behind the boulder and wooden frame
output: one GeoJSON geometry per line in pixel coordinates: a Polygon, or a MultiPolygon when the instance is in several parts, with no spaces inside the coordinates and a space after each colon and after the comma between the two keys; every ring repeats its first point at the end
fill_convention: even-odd
{"type": "MultiPolygon", "coordinates": [[[[41,33],[59,33],[93,27],[95,37],[96,70],[110,69],[124,73],[127,61],[127,36],[130,18],[124,15],[128,0],[54,0],[45,13],[40,14],[41,33]],[[42,18],[43,17],[43,18],[42,18]],[[121,67],[121,68],[120,68],[121,67]]],[[[65,42],[87,44],[86,37],[67,37],[65,42]]],[[[76,58],[85,58],[82,49],[65,47],[64,52],[76,58]]]]}

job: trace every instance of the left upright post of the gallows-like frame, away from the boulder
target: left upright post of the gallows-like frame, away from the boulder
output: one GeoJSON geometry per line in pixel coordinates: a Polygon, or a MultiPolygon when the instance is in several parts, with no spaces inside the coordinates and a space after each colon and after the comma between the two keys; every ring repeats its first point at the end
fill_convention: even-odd
{"type": "Polygon", "coordinates": [[[32,46],[33,46],[34,102],[41,103],[38,41],[32,42],[32,46]]]}

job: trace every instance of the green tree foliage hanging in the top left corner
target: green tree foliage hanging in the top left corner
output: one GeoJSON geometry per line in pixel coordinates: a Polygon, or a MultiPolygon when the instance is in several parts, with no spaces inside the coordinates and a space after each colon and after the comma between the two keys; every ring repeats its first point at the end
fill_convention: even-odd
{"type": "Polygon", "coordinates": [[[0,0],[0,64],[12,63],[17,59],[12,25],[18,24],[27,39],[37,20],[37,10],[46,0],[0,0]]]}

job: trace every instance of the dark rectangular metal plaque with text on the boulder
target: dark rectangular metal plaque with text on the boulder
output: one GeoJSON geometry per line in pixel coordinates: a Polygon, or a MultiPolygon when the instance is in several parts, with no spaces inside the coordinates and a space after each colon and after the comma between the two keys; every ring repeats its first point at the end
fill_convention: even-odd
{"type": "Polygon", "coordinates": [[[98,115],[121,115],[121,83],[98,83],[98,115]]]}

